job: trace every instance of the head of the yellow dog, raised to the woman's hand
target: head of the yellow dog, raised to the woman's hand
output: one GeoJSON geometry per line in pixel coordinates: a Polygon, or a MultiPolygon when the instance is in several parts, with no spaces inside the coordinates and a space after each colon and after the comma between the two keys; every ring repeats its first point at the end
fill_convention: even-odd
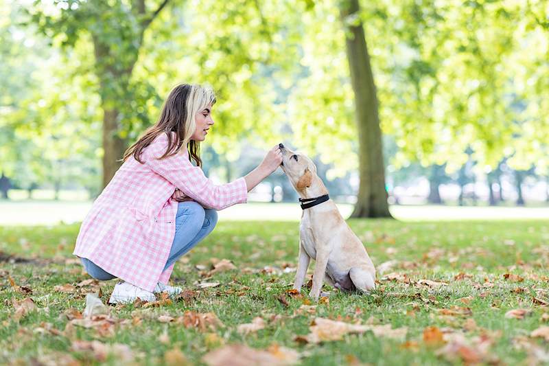
{"type": "Polygon", "coordinates": [[[296,191],[303,192],[314,181],[316,165],[306,155],[292,151],[283,144],[279,144],[279,148],[282,152],[282,170],[296,191]]]}

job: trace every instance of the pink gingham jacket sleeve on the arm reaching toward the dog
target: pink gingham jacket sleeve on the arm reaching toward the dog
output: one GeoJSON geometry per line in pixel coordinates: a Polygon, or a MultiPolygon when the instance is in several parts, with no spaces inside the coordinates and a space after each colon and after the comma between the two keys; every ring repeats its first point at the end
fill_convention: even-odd
{"type": "Polygon", "coordinates": [[[148,146],[143,160],[153,172],[170,181],[185,195],[206,208],[217,210],[237,203],[246,203],[248,188],[244,178],[215,185],[204,175],[202,168],[194,166],[189,161],[187,149],[171,157],[158,159],[164,154],[166,148],[167,136],[161,135],[148,146]]]}

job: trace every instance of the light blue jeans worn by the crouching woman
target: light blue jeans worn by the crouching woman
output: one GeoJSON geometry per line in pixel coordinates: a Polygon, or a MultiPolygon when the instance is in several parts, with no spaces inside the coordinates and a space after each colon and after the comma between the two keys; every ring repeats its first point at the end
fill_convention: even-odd
{"type": "MultiPolygon", "coordinates": [[[[176,234],[164,269],[171,266],[187,251],[204,239],[218,223],[215,209],[205,209],[196,202],[180,202],[176,214],[176,234]]],[[[106,281],[116,278],[87,258],[81,258],[86,272],[95,279],[106,281]]]]}

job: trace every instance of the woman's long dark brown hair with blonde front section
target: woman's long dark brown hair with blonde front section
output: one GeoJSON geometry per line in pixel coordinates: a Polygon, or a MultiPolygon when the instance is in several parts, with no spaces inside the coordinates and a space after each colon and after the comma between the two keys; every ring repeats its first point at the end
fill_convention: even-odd
{"type": "Polygon", "coordinates": [[[201,166],[200,146],[197,141],[191,140],[191,136],[196,129],[196,113],[209,104],[215,104],[215,93],[209,87],[180,84],[172,89],[164,103],[159,120],[145,130],[139,140],[126,150],[124,161],[133,155],[135,160],[143,163],[142,150],[152,144],[152,141],[161,133],[166,133],[167,149],[159,159],[176,155],[182,146],[189,144],[189,160],[192,158],[196,165],[201,166]],[[172,140],[172,132],[176,133],[176,139],[172,140]]]}

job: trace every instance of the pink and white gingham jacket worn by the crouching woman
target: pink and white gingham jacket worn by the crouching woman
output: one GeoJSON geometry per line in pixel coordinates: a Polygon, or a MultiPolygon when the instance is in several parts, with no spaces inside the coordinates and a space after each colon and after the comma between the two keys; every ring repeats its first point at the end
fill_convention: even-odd
{"type": "Polygon", "coordinates": [[[151,291],[167,283],[163,271],[175,235],[176,187],[202,206],[224,209],[245,203],[244,178],[215,185],[189,161],[187,149],[164,159],[167,135],[143,149],[139,163],[128,158],[93,203],[80,227],[74,255],[88,258],[108,273],[151,291]]]}

